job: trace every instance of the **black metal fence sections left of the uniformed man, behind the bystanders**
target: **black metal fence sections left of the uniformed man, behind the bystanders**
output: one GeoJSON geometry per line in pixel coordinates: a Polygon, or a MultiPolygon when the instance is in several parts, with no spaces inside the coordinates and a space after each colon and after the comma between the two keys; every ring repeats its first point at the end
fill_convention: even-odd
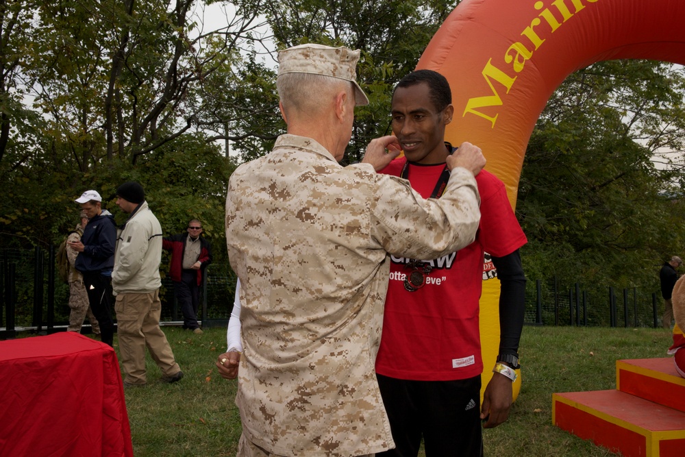
{"type": "MultiPolygon", "coordinates": [[[[55,247],[0,250],[0,339],[12,338],[24,330],[63,331],[69,325],[69,284],[55,274],[55,251],[55,247]]],[[[222,272],[221,265],[207,268],[199,310],[204,327],[227,324],[235,291],[235,275],[222,272]]],[[[162,279],[160,299],[162,323],[181,325],[182,314],[169,277],[162,279]]],[[[88,330],[90,326],[85,325],[84,332],[88,330]]]]}

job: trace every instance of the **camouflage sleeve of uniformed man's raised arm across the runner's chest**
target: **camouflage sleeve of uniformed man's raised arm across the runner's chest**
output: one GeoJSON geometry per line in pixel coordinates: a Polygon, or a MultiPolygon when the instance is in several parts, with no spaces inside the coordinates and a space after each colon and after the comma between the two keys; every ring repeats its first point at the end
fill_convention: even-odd
{"type": "Polygon", "coordinates": [[[378,175],[373,236],[388,254],[430,260],[471,244],[480,221],[473,175],[453,169],[440,199],[423,199],[407,180],[378,175]]]}

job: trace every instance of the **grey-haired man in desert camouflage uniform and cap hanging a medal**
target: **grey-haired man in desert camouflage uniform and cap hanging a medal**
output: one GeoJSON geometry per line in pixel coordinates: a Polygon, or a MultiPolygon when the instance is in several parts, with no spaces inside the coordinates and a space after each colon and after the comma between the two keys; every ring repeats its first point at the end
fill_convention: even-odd
{"type": "Polygon", "coordinates": [[[288,133],[229,181],[226,239],[240,278],[239,456],[362,456],[394,447],[374,373],[389,256],[432,259],[469,245],[479,223],[474,175],[485,164],[464,143],[447,158],[440,200],[379,175],[399,154],[372,140],[362,163],[340,166],[360,51],[301,45],[279,52],[277,89],[288,133]]]}

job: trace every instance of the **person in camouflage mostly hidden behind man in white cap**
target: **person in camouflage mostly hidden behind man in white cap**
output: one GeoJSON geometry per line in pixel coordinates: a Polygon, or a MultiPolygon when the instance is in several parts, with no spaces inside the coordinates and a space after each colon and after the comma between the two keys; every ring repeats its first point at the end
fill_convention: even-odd
{"type": "MultiPolygon", "coordinates": [[[[69,234],[69,237],[66,238],[66,240],[71,243],[81,240],[81,235],[88,223],[88,217],[86,217],[85,212],[81,212],[80,218],[81,222],[76,226],[76,229],[69,234]]],[[[95,319],[95,316],[92,314],[92,310],[90,310],[90,301],[88,301],[88,293],[86,292],[86,286],[84,286],[84,277],[74,267],[76,256],[78,255],[78,251],[67,243],[66,258],[69,259],[69,308],[71,308],[71,312],[69,313],[69,328],[66,330],[69,332],[80,332],[84,320],[86,319],[86,314],[88,314],[88,321],[90,321],[92,332],[99,335],[100,326],[97,323],[97,319],[95,319]]]]}

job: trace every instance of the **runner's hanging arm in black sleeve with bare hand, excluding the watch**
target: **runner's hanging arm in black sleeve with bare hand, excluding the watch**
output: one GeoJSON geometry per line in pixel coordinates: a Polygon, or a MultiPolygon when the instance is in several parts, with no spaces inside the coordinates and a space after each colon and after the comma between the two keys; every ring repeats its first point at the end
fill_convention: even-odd
{"type": "MultiPolygon", "coordinates": [[[[525,311],[525,274],[519,249],[503,257],[493,257],[500,282],[499,292],[499,354],[518,357],[525,311]]],[[[505,364],[508,365],[508,364],[505,364]]],[[[512,380],[501,373],[493,373],[483,395],[481,419],[484,428],[493,428],[509,417],[513,402],[512,380]]]]}

